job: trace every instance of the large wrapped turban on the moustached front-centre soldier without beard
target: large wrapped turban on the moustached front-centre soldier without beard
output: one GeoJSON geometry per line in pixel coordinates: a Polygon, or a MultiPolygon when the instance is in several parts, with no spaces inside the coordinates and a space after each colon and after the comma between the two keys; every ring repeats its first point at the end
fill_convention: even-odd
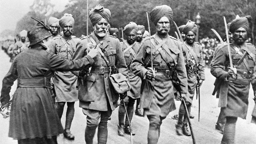
{"type": "Polygon", "coordinates": [[[172,8],[167,5],[156,6],[151,10],[150,20],[156,25],[158,20],[162,17],[167,17],[172,22],[173,11],[172,8]]]}

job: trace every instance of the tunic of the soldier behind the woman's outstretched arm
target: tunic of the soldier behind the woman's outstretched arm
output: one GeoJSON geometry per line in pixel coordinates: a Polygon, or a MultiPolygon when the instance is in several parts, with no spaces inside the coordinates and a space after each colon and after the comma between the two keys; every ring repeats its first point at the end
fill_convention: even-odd
{"type": "MultiPolygon", "coordinates": [[[[61,37],[56,37],[51,42],[49,49],[52,54],[57,54],[65,59],[72,60],[76,45],[80,41],[78,38],[71,38],[66,40],[61,37]],[[58,52],[59,50],[59,52],[58,52]]],[[[69,71],[54,72],[54,88],[56,93],[56,102],[75,102],[78,99],[78,92],[76,89],[77,76],[69,71]]]]}

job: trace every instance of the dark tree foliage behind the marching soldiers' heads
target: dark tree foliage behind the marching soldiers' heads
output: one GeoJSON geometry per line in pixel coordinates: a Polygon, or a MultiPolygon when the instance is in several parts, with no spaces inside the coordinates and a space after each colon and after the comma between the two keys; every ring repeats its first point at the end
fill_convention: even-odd
{"type": "MultiPolygon", "coordinates": [[[[31,11],[17,23],[16,32],[23,29],[29,30],[35,25],[35,22],[30,19],[31,16],[44,21],[45,18],[48,20],[50,16],[61,18],[64,13],[71,13],[75,20],[74,35],[80,37],[81,34],[86,34],[87,7],[85,0],[71,0],[72,4],[67,5],[65,10],[60,13],[51,9],[53,5],[49,3],[49,0],[38,3],[41,1],[35,0],[35,3],[31,6],[31,11]],[[50,14],[47,10],[51,11],[50,14]]],[[[251,25],[252,33],[250,37],[254,40],[256,36],[255,0],[89,0],[89,9],[98,4],[110,9],[110,25],[115,28],[124,27],[133,21],[144,25],[148,30],[146,12],[149,13],[155,6],[166,4],[173,9],[173,20],[178,26],[186,24],[188,20],[195,21],[195,16],[200,13],[199,38],[217,38],[210,30],[211,28],[215,29],[221,36],[225,36],[223,16],[226,17],[227,22],[231,22],[237,14],[240,17],[252,16],[253,24],[251,25]]],[[[93,30],[90,22],[88,28],[89,31],[93,30]]],[[[156,32],[154,24],[151,22],[150,28],[151,34],[156,32]]],[[[174,36],[174,31],[176,29],[172,23],[170,35],[174,36]]]]}

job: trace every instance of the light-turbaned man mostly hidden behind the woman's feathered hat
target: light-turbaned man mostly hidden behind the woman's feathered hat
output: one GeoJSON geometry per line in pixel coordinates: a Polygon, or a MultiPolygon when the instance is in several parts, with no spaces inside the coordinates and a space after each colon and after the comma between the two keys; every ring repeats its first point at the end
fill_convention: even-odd
{"type": "Polygon", "coordinates": [[[53,35],[52,39],[55,39],[56,37],[58,37],[58,33],[60,31],[59,19],[55,17],[50,17],[48,20],[48,25],[49,25],[50,32],[53,35]]]}

